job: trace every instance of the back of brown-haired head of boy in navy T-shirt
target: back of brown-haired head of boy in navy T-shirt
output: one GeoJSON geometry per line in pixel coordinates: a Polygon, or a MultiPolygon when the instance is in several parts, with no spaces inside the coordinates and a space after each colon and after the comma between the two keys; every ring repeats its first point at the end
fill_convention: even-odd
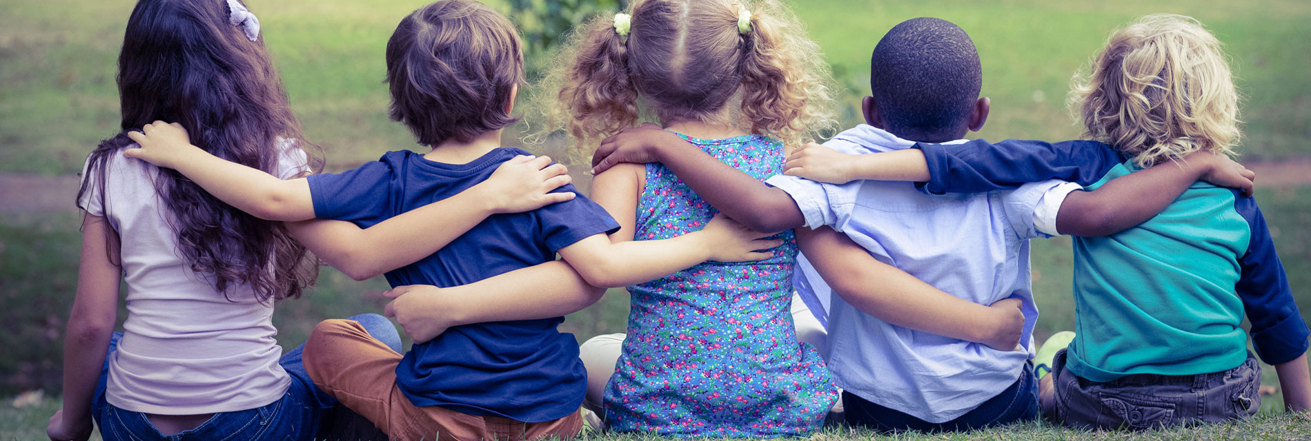
{"type": "Polygon", "coordinates": [[[514,25],[477,1],[414,10],[387,42],[392,120],[430,147],[514,124],[506,106],[523,82],[522,46],[514,25]]]}

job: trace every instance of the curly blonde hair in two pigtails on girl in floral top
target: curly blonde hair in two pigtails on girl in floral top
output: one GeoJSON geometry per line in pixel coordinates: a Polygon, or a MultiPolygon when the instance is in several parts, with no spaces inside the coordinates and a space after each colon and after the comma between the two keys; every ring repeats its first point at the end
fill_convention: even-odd
{"type": "Polygon", "coordinates": [[[640,0],[631,31],[603,13],[579,26],[538,88],[545,123],[530,135],[568,130],[569,157],[654,114],[739,127],[788,144],[831,133],[838,120],[832,76],[819,44],[780,0],[640,0]],[[738,31],[739,10],[751,31],[738,31]],[[741,113],[725,113],[741,99],[741,113]],[[724,120],[730,114],[732,120],[724,120]]]}

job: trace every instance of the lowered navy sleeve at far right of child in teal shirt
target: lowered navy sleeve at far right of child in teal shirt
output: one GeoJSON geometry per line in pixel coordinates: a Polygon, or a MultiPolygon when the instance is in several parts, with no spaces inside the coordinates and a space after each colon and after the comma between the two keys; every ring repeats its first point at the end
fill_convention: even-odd
{"type": "Polygon", "coordinates": [[[1274,241],[1255,198],[1235,195],[1235,199],[1234,208],[1252,229],[1247,254],[1239,259],[1242,272],[1235,287],[1247,309],[1247,319],[1252,322],[1252,345],[1266,364],[1291,361],[1307,352],[1311,330],[1293,300],[1287,275],[1274,254],[1274,241]]]}

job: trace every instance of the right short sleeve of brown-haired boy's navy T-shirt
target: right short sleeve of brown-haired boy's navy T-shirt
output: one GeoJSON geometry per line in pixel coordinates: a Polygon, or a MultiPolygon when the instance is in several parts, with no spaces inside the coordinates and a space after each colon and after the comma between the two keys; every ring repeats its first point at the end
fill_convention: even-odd
{"type": "Polygon", "coordinates": [[[572,191],[578,198],[539,208],[535,213],[541,228],[541,238],[551,251],[573,245],[595,234],[611,234],[619,230],[619,222],[599,204],[582,196],[578,188],[568,185],[552,192],[572,191]]]}

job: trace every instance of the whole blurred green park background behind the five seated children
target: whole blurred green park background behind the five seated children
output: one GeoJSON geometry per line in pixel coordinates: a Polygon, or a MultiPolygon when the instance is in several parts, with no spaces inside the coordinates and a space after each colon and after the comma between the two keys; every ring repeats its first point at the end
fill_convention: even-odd
{"type": "MultiPolygon", "coordinates": [[[[325,149],[329,170],[416,147],[402,126],[387,119],[383,50],[400,18],[423,1],[248,3],[260,16],[307,136],[325,149]]],[[[544,65],[551,43],[545,37],[562,29],[560,16],[551,14],[543,0],[488,3],[530,30],[527,39],[536,47],[530,64],[544,65]],[[535,12],[515,13],[524,9],[535,12]]],[[[561,14],[581,17],[590,10],[586,1],[564,3],[583,5],[561,14]]],[[[5,200],[0,207],[0,397],[59,391],[62,334],[80,243],[75,174],[96,143],[118,131],[114,72],[132,4],[0,0],[0,195],[5,200]]],[[[1311,148],[1306,145],[1311,137],[1311,1],[792,4],[846,88],[842,115],[848,126],[859,122],[856,105],[868,93],[868,56],[888,29],[924,16],[964,27],[978,46],[983,94],[992,99],[987,127],[971,136],[994,140],[1078,137],[1079,127],[1065,109],[1068,80],[1112,29],[1155,12],[1201,20],[1232,58],[1244,96],[1243,161],[1261,173],[1257,198],[1299,306],[1311,310],[1311,148]]],[[[1072,327],[1070,260],[1068,239],[1034,242],[1034,292],[1042,311],[1038,338],[1072,327]]],[[[279,340],[296,345],[320,319],[380,311],[384,289],[382,279],[357,283],[325,267],[311,296],[279,304],[279,340]]],[[[627,293],[611,291],[598,305],[570,315],[564,328],[579,342],[619,332],[627,308],[627,293]]],[[[1272,370],[1268,379],[1273,379],[1272,370]]],[[[1278,402],[1268,399],[1266,407],[1273,406],[1278,402]]]]}

